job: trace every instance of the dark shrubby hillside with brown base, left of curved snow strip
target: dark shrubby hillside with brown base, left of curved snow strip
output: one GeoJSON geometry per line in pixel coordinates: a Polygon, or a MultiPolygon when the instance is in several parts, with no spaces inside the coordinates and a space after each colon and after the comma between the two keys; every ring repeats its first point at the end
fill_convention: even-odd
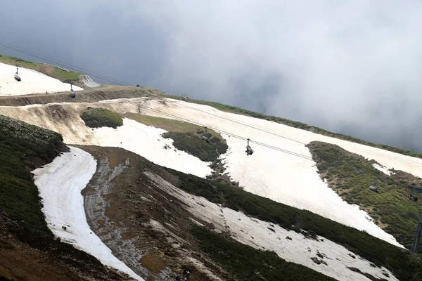
{"type": "Polygon", "coordinates": [[[31,171],[66,151],[60,134],[0,115],[0,280],[124,280],[46,224],[31,171]]]}

